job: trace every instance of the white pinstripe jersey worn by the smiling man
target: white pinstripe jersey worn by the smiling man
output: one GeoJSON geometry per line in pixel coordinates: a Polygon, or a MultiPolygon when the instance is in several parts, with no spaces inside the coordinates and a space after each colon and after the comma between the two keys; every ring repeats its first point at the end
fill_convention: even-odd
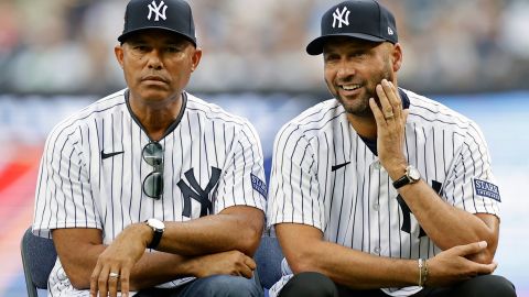
{"type": "MultiPolygon", "coordinates": [[[[410,110],[404,141],[409,164],[447,204],[498,216],[499,191],[478,127],[439,102],[408,90],[400,95],[410,110]]],[[[336,99],[314,106],[280,130],[269,197],[270,226],[309,224],[322,230],[326,241],[380,256],[419,258],[441,251],[336,99]]],[[[291,276],[287,266],[271,296],[291,276]]],[[[420,287],[382,290],[409,296],[420,287]]]]}

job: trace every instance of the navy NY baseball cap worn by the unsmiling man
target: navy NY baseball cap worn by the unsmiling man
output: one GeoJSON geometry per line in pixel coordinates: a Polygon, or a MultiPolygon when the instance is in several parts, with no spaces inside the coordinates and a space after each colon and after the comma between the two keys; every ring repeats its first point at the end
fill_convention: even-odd
{"type": "Polygon", "coordinates": [[[180,34],[196,46],[193,13],[183,0],[131,0],[125,11],[123,43],[131,34],[145,29],[162,29],[180,34]]]}

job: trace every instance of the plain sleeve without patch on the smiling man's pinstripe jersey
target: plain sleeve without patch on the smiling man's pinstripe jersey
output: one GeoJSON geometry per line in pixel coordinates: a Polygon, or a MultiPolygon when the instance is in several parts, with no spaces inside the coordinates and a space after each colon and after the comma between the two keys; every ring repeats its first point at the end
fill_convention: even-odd
{"type": "Polygon", "coordinates": [[[312,144],[295,125],[276,136],[268,205],[269,226],[303,223],[325,230],[323,197],[317,186],[312,144]]]}

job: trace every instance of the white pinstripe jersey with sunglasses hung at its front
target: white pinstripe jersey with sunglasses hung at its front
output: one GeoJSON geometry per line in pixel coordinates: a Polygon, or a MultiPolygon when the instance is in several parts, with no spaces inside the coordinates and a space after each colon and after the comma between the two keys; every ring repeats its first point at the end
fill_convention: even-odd
{"type": "MultiPolygon", "coordinates": [[[[163,196],[148,197],[142,184],[153,166],[142,158],[142,148],[150,140],[127,97],[122,90],[102,98],[51,132],[36,187],[35,234],[96,228],[109,244],[125,227],[149,218],[186,221],[238,205],[264,210],[262,151],[255,129],[186,92],[183,112],[159,142],[164,148],[163,196]]],[[[53,296],[88,296],[72,287],[58,260],[48,285],[53,296]]]]}

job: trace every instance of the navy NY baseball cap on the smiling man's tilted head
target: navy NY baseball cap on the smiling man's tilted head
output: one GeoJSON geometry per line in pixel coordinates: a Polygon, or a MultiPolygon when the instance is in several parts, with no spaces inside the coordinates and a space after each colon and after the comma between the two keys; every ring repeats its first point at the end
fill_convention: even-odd
{"type": "Polygon", "coordinates": [[[344,1],[322,16],[322,34],[306,46],[309,55],[323,53],[328,37],[349,36],[371,42],[397,43],[393,14],[375,0],[344,1]]]}

